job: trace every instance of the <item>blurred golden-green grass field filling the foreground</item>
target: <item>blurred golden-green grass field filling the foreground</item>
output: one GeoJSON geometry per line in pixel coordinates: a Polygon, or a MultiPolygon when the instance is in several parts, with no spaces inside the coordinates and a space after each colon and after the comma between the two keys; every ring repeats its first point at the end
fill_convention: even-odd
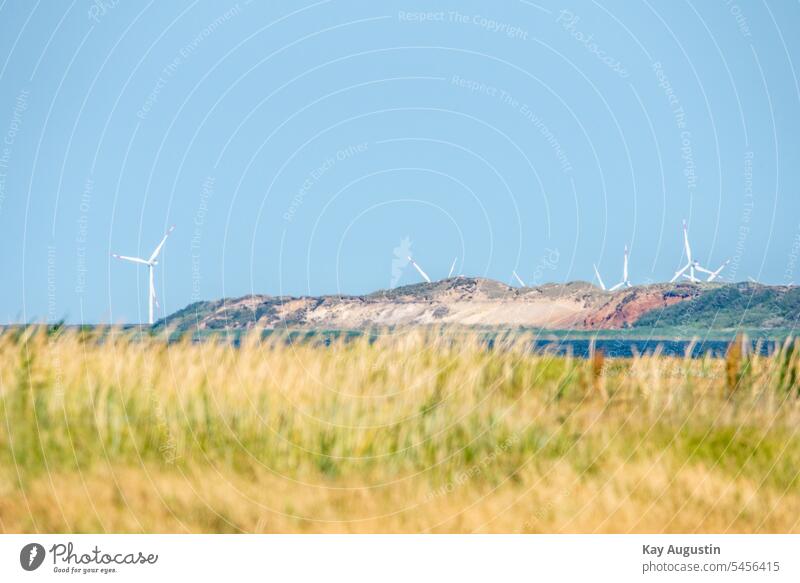
{"type": "Polygon", "coordinates": [[[800,342],[0,335],[2,532],[797,532],[800,342]]]}

